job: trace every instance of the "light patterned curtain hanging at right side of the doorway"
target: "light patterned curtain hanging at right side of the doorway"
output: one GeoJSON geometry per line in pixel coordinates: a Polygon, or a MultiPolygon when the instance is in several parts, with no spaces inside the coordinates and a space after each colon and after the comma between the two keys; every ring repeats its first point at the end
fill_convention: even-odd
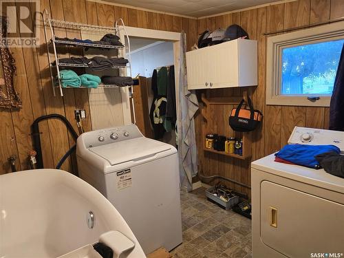
{"type": "Polygon", "coordinates": [[[192,190],[192,178],[197,175],[197,147],[194,116],[198,109],[195,91],[188,90],[186,79],[186,35],[180,34],[180,76],[178,109],[178,155],[182,189],[192,190]]]}

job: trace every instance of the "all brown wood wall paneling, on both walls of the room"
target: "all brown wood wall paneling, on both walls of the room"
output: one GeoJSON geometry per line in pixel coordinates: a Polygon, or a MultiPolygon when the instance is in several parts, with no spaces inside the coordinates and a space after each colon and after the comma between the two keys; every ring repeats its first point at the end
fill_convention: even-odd
{"type": "MultiPolygon", "coordinates": [[[[184,30],[189,50],[197,41],[198,33],[206,29],[227,28],[228,25],[237,23],[248,32],[250,39],[257,39],[259,42],[259,83],[257,87],[250,88],[250,94],[255,107],[263,112],[264,120],[261,127],[252,133],[252,160],[280,149],[286,144],[295,125],[328,127],[328,108],[281,107],[265,104],[266,36],[263,33],[342,17],[344,16],[342,0],[299,0],[199,20],[87,0],[41,0],[41,10],[44,9],[47,9],[54,19],[65,21],[112,25],[121,17],[126,24],[133,27],[174,32],[184,30]]],[[[42,29],[41,33],[43,33],[42,29]]],[[[80,36],[64,29],[56,31],[56,34],[80,36]]],[[[12,52],[17,64],[14,83],[21,94],[23,108],[19,111],[0,111],[0,174],[10,171],[8,157],[13,154],[19,157],[17,169],[28,169],[28,151],[32,149],[30,125],[34,119],[45,114],[61,114],[66,116],[76,129],[74,109],[85,109],[89,115],[87,89],[64,89],[65,97],[53,96],[45,44],[42,43],[38,48],[14,48],[12,52]]],[[[74,50],[65,56],[78,54],[80,52],[74,50]]],[[[242,93],[242,89],[212,89],[210,92],[211,96],[241,96],[242,93]]],[[[231,108],[230,105],[216,105],[213,110],[214,132],[230,134],[228,114],[231,108]]],[[[237,160],[216,153],[204,153],[202,150],[204,139],[199,133],[203,124],[200,114],[197,115],[195,122],[200,171],[205,175],[219,174],[250,184],[252,160],[237,160]]],[[[86,131],[92,129],[90,116],[83,121],[83,125],[86,131]]],[[[67,133],[65,126],[56,120],[41,122],[40,131],[45,167],[53,168],[75,142],[67,133]]],[[[67,160],[63,169],[76,171],[75,157],[67,160]]],[[[229,185],[249,193],[244,187],[229,185]]]]}

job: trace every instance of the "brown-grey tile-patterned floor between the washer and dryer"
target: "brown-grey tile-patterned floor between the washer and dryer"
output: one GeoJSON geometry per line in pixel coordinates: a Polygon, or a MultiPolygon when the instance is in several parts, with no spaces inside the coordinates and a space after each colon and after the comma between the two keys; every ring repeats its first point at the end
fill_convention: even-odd
{"type": "Polygon", "coordinates": [[[206,189],[181,192],[183,243],[175,258],[251,257],[251,221],[206,200],[206,189]]]}

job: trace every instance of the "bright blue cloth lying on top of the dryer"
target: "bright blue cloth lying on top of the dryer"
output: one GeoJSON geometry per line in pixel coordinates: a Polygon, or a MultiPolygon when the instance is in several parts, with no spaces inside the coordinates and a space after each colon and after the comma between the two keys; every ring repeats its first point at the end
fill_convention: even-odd
{"type": "Polygon", "coordinates": [[[275,156],[300,166],[320,169],[320,164],[315,156],[330,151],[341,153],[341,150],[334,145],[288,144],[281,151],[275,153],[275,156]]]}

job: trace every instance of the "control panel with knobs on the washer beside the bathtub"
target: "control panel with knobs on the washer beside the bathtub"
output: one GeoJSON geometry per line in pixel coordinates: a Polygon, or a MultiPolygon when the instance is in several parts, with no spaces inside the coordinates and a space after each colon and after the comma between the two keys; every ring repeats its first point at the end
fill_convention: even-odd
{"type": "Polygon", "coordinates": [[[133,138],[144,137],[136,125],[127,125],[124,127],[114,127],[89,131],[81,136],[85,142],[86,148],[97,147],[122,140],[130,140],[133,138]]]}

